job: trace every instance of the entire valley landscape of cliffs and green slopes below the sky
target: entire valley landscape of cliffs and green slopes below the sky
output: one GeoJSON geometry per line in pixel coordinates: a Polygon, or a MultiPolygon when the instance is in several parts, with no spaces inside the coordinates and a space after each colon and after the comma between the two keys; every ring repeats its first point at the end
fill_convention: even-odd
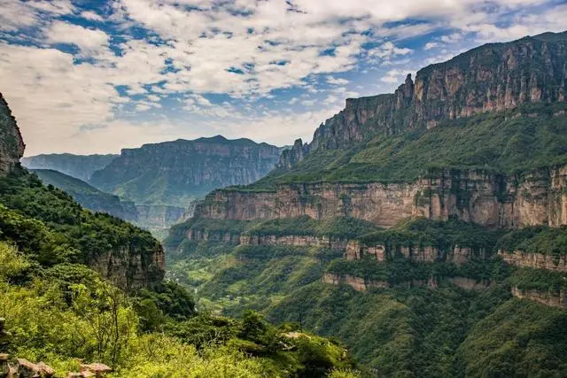
{"type": "Polygon", "coordinates": [[[59,375],[567,376],[566,80],[544,33],[347,98],[310,143],[29,169],[0,97],[0,351],[59,375]]]}

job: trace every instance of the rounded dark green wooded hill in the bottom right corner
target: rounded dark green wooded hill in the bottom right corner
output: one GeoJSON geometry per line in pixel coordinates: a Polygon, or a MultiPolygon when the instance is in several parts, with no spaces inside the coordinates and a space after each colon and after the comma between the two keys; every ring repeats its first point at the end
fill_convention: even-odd
{"type": "Polygon", "coordinates": [[[563,377],[567,312],[512,299],[478,321],[457,350],[460,376],[563,377]]]}

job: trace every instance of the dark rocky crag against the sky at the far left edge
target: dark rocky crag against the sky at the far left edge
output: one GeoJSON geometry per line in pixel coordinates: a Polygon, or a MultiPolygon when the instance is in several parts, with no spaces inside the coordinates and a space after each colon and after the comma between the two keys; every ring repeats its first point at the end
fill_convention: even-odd
{"type": "Polygon", "coordinates": [[[9,174],[19,165],[25,147],[16,119],[0,93],[0,175],[9,174]]]}

